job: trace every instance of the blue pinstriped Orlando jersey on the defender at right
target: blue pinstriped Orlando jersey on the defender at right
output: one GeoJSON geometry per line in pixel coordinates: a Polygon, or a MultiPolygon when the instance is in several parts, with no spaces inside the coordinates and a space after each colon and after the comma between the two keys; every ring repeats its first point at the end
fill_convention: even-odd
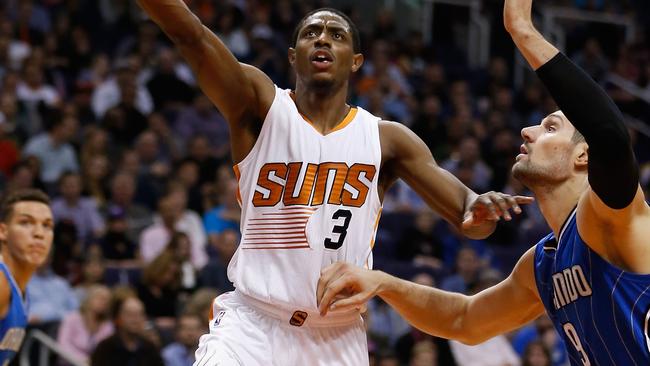
{"type": "Polygon", "coordinates": [[[535,248],[537,290],[572,365],[650,365],[650,275],[625,272],[580,235],[574,210],[535,248]]]}

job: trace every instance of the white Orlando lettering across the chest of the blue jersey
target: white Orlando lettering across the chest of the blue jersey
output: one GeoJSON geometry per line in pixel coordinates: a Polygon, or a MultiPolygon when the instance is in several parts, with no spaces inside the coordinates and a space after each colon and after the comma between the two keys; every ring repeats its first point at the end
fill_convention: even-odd
{"type": "Polygon", "coordinates": [[[553,274],[553,304],[561,309],[581,297],[591,296],[591,286],[579,265],[565,268],[553,274]]]}

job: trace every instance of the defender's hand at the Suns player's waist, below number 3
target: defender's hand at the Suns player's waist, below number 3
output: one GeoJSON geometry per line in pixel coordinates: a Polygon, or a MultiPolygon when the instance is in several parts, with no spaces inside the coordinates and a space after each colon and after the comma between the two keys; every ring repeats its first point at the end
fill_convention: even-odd
{"type": "Polygon", "coordinates": [[[342,262],[323,268],[316,290],[321,315],[330,310],[363,308],[379,291],[380,276],[381,272],[342,262]]]}

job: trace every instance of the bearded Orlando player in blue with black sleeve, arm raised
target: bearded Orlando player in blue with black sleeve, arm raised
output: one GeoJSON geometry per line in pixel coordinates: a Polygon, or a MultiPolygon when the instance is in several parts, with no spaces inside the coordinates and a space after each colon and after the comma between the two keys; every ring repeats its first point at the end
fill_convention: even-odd
{"type": "Polygon", "coordinates": [[[620,111],[534,28],[532,0],[505,0],[504,23],[561,111],[522,130],[514,176],[553,230],[510,276],[474,296],[334,264],[321,312],[379,295],[416,327],[476,344],[547,311],[572,365],[650,365],[650,208],[620,111]]]}

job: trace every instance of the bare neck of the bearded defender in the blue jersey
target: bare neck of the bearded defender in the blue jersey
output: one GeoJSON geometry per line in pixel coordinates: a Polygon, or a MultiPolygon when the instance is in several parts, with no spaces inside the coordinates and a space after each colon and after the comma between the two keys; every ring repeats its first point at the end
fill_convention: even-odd
{"type": "Polygon", "coordinates": [[[560,235],[566,218],[576,207],[580,196],[588,186],[586,177],[577,176],[553,189],[548,187],[533,189],[539,209],[556,238],[560,235]]]}

